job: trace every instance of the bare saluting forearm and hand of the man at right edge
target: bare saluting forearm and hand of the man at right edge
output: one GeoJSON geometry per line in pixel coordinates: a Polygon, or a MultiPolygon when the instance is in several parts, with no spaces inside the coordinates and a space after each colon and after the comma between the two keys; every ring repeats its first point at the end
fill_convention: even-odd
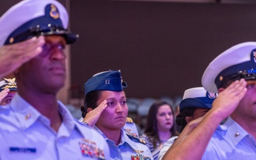
{"type": "Polygon", "coordinates": [[[241,79],[225,89],[220,88],[218,97],[213,101],[213,108],[203,117],[186,125],[163,159],[202,159],[215,129],[238,107],[240,100],[245,96],[246,85],[247,82],[241,79]],[[198,144],[196,150],[191,148],[193,144],[198,144]],[[184,152],[186,154],[183,154],[184,152]]]}

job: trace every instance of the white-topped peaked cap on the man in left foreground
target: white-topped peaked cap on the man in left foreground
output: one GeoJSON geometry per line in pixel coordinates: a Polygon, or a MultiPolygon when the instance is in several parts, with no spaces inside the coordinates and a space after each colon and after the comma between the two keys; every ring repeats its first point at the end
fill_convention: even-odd
{"type": "Polygon", "coordinates": [[[26,0],[12,6],[0,18],[0,46],[33,36],[60,35],[70,44],[78,35],[68,28],[68,12],[55,0],[26,0]]]}

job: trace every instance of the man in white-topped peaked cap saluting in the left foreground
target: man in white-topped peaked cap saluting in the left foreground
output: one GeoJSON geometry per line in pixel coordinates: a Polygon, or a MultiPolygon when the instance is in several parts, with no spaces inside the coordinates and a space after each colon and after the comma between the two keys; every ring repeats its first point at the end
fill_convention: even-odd
{"type": "Polygon", "coordinates": [[[0,26],[1,49],[40,52],[16,65],[18,92],[0,106],[0,159],[109,159],[103,137],[75,121],[57,100],[65,85],[65,46],[77,38],[67,29],[65,7],[53,0],[20,1],[1,16],[0,26]]]}

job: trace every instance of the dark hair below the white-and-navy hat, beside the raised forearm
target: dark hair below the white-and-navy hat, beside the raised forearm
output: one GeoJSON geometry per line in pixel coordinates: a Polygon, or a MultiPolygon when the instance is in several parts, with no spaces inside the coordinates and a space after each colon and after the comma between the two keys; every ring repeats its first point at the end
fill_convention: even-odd
{"type": "Polygon", "coordinates": [[[181,126],[181,132],[186,127],[186,124],[188,124],[185,118],[193,116],[193,113],[195,112],[195,110],[196,110],[196,107],[188,107],[183,109],[181,113],[177,115],[176,124],[178,124],[178,126],[181,126]]]}

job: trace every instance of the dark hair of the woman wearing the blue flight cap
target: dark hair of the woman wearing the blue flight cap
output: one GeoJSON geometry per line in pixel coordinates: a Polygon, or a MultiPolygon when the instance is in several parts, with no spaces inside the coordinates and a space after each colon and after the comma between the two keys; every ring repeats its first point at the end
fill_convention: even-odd
{"type": "Polygon", "coordinates": [[[84,105],[80,107],[82,117],[87,114],[87,108],[94,110],[97,107],[97,101],[100,99],[101,90],[93,90],[85,95],[84,105]]]}

